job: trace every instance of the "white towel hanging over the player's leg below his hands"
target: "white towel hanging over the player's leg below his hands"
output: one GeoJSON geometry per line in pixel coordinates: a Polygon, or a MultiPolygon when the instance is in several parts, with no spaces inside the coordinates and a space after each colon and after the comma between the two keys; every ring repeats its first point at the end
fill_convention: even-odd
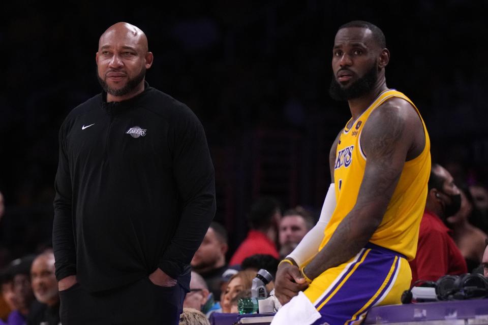
{"type": "Polygon", "coordinates": [[[270,325],[310,325],[321,317],[301,291],[278,310],[270,325]]]}

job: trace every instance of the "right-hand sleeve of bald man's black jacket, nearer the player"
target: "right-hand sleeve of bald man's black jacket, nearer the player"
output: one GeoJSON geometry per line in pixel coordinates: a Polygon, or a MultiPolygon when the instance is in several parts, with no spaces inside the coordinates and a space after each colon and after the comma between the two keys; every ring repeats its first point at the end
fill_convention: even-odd
{"type": "Polygon", "coordinates": [[[215,170],[205,132],[188,107],[173,127],[173,173],[182,202],[176,232],[160,258],[159,268],[172,278],[186,273],[215,216],[215,170]]]}

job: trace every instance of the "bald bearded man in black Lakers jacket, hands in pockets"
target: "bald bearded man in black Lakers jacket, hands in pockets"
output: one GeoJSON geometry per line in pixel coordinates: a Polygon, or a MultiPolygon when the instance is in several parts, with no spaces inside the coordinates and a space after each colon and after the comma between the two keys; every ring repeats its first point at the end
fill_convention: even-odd
{"type": "Polygon", "coordinates": [[[177,324],[216,210],[205,133],[187,106],[145,82],[153,54],[138,27],[109,27],[96,59],[104,91],[59,131],[62,322],[177,324]]]}

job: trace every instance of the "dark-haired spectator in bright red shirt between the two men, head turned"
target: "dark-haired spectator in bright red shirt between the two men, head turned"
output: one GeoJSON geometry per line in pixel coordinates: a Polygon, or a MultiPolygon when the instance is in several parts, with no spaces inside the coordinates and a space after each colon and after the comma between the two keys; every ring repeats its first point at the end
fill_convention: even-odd
{"type": "Polygon", "coordinates": [[[278,201],[272,198],[258,199],[248,214],[251,228],[248,236],[237,247],[229,265],[240,265],[246,257],[254,254],[269,254],[279,258],[276,241],[280,219],[281,209],[278,201]]]}

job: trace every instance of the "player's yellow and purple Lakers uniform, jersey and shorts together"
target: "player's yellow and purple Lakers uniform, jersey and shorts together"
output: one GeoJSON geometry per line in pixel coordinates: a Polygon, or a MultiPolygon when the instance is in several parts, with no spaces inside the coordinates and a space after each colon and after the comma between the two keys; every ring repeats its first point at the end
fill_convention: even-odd
{"type": "MultiPolygon", "coordinates": [[[[388,89],[350,128],[344,128],[334,165],[337,205],[325,228],[319,250],[356,204],[367,161],[360,144],[362,128],[371,113],[392,97],[409,102],[420,117],[407,96],[388,89]]],[[[348,325],[359,322],[375,305],[399,304],[403,291],[409,288],[412,275],[407,260],[413,259],[417,250],[419,224],[431,170],[430,141],[423,120],[422,125],[425,146],[416,158],[405,162],[383,219],[368,245],[346,263],[323,272],[304,291],[322,314],[317,323],[326,321],[331,325],[348,325]]]]}

